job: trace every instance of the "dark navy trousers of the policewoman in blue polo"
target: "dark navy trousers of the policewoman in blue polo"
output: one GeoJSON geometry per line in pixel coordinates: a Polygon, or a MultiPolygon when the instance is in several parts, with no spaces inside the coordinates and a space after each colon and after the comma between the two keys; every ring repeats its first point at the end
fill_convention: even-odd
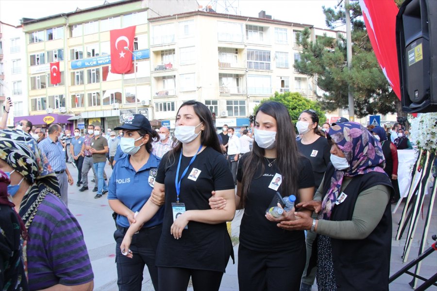
{"type": "Polygon", "coordinates": [[[125,231],[117,229],[114,232],[117,262],[117,285],[119,291],[141,291],[143,282],[144,266],[147,265],[149,274],[155,290],[158,289],[158,269],[155,265],[156,248],[161,237],[162,225],[149,229],[141,229],[134,234],[131,243],[131,250],[134,258],[130,259],[121,254],[120,245],[123,241],[125,231]]]}

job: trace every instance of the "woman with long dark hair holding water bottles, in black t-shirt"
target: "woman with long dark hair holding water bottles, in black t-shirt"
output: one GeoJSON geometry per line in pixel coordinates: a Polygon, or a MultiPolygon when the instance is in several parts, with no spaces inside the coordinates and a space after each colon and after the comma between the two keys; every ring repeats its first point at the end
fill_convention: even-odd
{"type": "MultiPolygon", "coordinates": [[[[313,199],[311,163],[299,153],[288,111],[278,102],[265,102],[256,111],[254,139],[252,152],[243,155],[237,172],[235,203],[244,209],[238,247],[239,290],[299,290],[306,260],[304,233],[284,231],[265,214],[270,205],[276,206],[277,191],[282,196],[296,195],[297,202],[313,199]],[[279,187],[272,186],[278,177],[279,187]]],[[[229,204],[215,196],[210,199],[212,208],[229,204]]],[[[286,212],[287,216],[294,216],[292,212],[286,212]]]]}

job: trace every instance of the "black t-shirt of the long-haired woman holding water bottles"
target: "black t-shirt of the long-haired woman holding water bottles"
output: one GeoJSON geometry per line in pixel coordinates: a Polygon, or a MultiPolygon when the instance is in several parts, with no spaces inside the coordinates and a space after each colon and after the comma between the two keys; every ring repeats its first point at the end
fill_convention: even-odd
{"type": "MultiPolygon", "coordinates": [[[[243,155],[238,163],[237,180],[240,182],[244,175],[244,161],[250,154],[243,155]]],[[[301,244],[305,241],[303,230],[284,230],[276,226],[276,222],[271,222],[265,217],[266,210],[276,194],[276,190],[269,188],[269,186],[274,182],[275,174],[281,173],[275,163],[269,167],[266,159],[263,159],[263,161],[264,173],[261,173],[261,168],[259,168],[255,172],[249,187],[249,194],[245,202],[240,225],[240,244],[249,249],[262,252],[300,249],[301,244]]],[[[299,175],[299,189],[314,187],[313,170],[307,158],[302,157],[296,175],[299,175]]],[[[281,186],[277,191],[283,194],[281,186]]],[[[297,196],[297,193],[290,194],[297,196]]],[[[288,194],[283,194],[283,196],[288,196],[288,194]]]]}

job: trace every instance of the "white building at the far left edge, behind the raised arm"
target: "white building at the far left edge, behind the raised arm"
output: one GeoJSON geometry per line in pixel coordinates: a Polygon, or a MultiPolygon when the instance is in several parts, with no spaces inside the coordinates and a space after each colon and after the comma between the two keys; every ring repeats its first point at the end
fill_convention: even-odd
{"type": "Polygon", "coordinates": [[[24,32],[21,26],[0,21],[0,118],[4,114],[6,98],[10,97],[13,107],[8,114],[8,127],[14,126],[14,116],[28,113],[24,48],[24,32]]]}

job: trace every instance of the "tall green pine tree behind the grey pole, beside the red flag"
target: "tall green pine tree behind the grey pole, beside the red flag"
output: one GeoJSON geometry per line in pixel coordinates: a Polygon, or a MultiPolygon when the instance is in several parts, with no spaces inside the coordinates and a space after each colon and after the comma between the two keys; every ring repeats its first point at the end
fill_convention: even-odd
{"type": "MultiPolygon", "coordinates": [[[[364,117],[368,114],[387,114],[401,112],[400,101],[391,89],[376,60],[369,36],[362,19],[358,1],[351,1],[348,7],[352,22],[352,70],[348,70],[345,35],[338,33],[337,39],[325,35],[310,41],[310,30],[298,33],[296,41],[303,47],[301,61],[295,68],[308,76],[316,78],[322,95],[318,101],[324,110],[348,108],[348,87],[354,97],[355,114],[364,117]]],[[[345,24],[344,7],[325,8],[326,25],[335,29],[345,24]]]]}

